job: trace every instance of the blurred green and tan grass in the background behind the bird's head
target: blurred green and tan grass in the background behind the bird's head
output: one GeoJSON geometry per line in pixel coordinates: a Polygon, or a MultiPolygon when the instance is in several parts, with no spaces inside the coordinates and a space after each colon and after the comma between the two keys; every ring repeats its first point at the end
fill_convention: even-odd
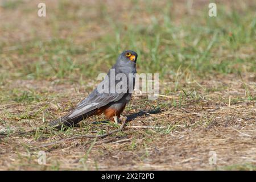
{"type": "MultiPolygon", "coordinates": [[[[79,82],[106,72],[123,49],[138,52],[139,73],[172,80],[255,72],[256,2],[1,1],[0,84],[10,79],[79,82]]],[[[82,82],[84,84],[84,82],[82,82]]]]}

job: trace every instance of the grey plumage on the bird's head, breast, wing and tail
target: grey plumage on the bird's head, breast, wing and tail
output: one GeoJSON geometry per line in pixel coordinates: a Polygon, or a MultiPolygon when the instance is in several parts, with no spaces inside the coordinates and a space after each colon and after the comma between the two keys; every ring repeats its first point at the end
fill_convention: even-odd
{"type": "Polygon", "coordinates": [[[135,73],[136,71],[136,61],[137,61],[137,53],[134,51],[123,51],[116,61],[116,63],[112,67],[112,71],[114,71],[114,76],[117,76],[119,73],[123,74],[127,78],[126,92],[122,93],[110,93],[110,91],[115,90],[115,85],[118,84],[119,80],[114,80],[114,84],[112,84],[113,75],[110,75],[110,71],[107,76],[102,80],[99,85],[109,85],[108,91],[109,93],[100,93],[98,92],[98,86],[93,90],[92,93],[89,94],[85,100],[81,101],[74,110],[72,110],[64,117],[56,119],[52,122],[49,122],[49,126],[53,127],[61,127],[61,125],[73,126],[76,123],[80,122],[82,119],[88,118],[92,115],[98,113],[98,110],[101,108],[106,109],[121,109],[129,102],[131,98],[131,93],[134,89],[135,85],[135,73]],[[134,55],[135,60],[131,61],[128,54],[134,55]],[[129,79],[129,74],[133,75],[132,78],[129,79]]]}

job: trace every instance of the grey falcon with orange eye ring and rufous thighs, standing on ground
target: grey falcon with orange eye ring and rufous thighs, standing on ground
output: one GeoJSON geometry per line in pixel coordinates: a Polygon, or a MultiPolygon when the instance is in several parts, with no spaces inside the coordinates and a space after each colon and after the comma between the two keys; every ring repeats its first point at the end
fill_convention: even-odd
{"type": "Polygon", "coordinates": [[[134,90],[137,57],[134,51],[123,51],[104,80],[85,100],[81,101],[70,113],[49,122],[48,125],[60,129],[62,125],[73,126],[83,119],[102,113],[106,118],[118,123],[120,114],[130,101],[134,90]],[[123,82],[120,84],[121,81],[123,82]],[[118,84],[121,85],[119,90],[118,84]]]}

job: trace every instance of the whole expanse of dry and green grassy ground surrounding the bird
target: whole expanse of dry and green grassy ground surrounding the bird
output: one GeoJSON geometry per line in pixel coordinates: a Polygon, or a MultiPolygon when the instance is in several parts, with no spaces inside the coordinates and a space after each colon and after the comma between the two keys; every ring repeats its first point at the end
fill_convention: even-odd
{"type": "Polygon", "coordinates": [[[46,1],[45,19],[38,2],[0,6],[1,170],[256,169],[255,3],[217,1],[212,21],[208,1],[46,1]],[[138,72],[160,73],[161,96],[134,95],[126,126],[106,137],[70,139],[118,129],[93,123],[102,116],[47,128],[127,47],[138,72]]]}

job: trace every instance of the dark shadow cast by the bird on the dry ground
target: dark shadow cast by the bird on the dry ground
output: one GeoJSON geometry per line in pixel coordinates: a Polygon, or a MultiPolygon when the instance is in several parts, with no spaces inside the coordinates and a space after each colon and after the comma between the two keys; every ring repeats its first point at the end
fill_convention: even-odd
{"type": "MultiPolygon", "coordinates": [[[[141,110],[141,111],[138,111],[138,113],[133,113],[133,114],[127,115],[126,122],[133,121],[135,118],[141,117],[142,115],[144,115],[144,117],[148,117],[151,114],[158,114],[158,113],[162,113],[162,110],[160,110],[160,109],[152,109],[152,110],[146,110],[146,111],[141,110]]],[[[96,124],[96,125],[104,124],[104,123],[109,123],[109,121],[94,121],[94,122],[92,122],[92,124],[96,124]]]]}

